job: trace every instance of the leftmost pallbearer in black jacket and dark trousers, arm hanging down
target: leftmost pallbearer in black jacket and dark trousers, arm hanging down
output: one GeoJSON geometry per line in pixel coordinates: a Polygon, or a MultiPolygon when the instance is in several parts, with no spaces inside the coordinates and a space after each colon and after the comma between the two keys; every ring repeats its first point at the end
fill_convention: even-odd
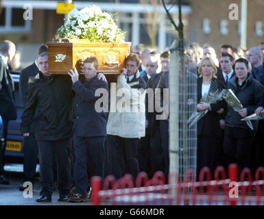
{"type": "Polygon", "coordinates": [[[29,136],[32,122],[40,157],[40,185],[37,202],[51,202],[53,188],[53,160],[58,165],[58,201],[67,201],[70,190],[71,114],[73,92],[71,78],[48,73],[47,52],[38,55],[40,72],[29,80],[29,96],[21,116],[21,133],[29,136]],[[38,116],[34,118],[35,114],[38,116]]]}

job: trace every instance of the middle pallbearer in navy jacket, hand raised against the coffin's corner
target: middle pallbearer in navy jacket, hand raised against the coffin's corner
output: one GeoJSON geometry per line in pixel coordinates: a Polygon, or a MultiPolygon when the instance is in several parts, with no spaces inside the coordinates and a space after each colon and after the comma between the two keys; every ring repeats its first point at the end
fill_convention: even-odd
{"type": "MultiPolygon", "coordinates": [[[[73,143],[75,151],[75,194],[69,201],[82,202],[87,199],[87,181],[89,177],[99,176],[104,179],[106,112],[97,105],[98,89],[103,89],[103,103],[108,103],[108,83],[97,78],[99,62],[96,57],[84,60],[84,82],[79,81],[76,68],[70,70],[75,91],[73,125],[73,143]],[[96,95],[96,96],[95,96],[96,95]],[[105,102],[104,102],[105,101],[105,102]],[[89,168],[88,168],[89,167],[89,168]],[[88,175],[87,175],[88,169],[88,175]]],[[[108,107],[108,104],[106,104],[108,107]]],[[[105,109],[106,111],[107,109],[105,109]]]]}

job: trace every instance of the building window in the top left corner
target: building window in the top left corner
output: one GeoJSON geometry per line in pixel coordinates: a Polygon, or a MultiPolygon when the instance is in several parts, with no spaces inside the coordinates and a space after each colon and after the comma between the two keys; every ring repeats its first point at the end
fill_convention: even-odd
{"type": "Polygon", "coordinates": [[[5,34],[30,31],[31,21],[25,21],[24,12],[21,8],[3,8],[0,15],[0,31],[5,34]]]}

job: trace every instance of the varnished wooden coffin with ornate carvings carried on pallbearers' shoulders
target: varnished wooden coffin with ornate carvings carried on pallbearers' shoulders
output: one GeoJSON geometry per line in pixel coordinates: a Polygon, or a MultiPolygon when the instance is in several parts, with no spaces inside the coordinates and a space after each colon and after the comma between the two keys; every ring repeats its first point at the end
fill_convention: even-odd
{"type": "Polygon", "coordinates": [[[49,53],[49,73],[67,74],[76,67],[82,73],[86,57],[96,56],[99,71],[108,75],[120,74],[125,57],[130,54],[131,42],[121,44],[93,43],[88,40],[67,40],[47,42],[49,53]]]}

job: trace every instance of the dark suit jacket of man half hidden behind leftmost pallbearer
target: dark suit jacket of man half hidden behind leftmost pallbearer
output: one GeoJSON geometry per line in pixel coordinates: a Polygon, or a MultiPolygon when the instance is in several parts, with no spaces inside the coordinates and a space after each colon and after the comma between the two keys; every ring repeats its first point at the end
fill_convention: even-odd
{"type": "Polygon", "coordinates": [[[36,66],[35,62],[27,68],[21,70],[20,77],[19,77],[19,93],[22,99],[23,106],[27,103],[27,96],[28,96],[28,79],[29,77],[35,77],[38,74],[38,67],[36,66]]]}

